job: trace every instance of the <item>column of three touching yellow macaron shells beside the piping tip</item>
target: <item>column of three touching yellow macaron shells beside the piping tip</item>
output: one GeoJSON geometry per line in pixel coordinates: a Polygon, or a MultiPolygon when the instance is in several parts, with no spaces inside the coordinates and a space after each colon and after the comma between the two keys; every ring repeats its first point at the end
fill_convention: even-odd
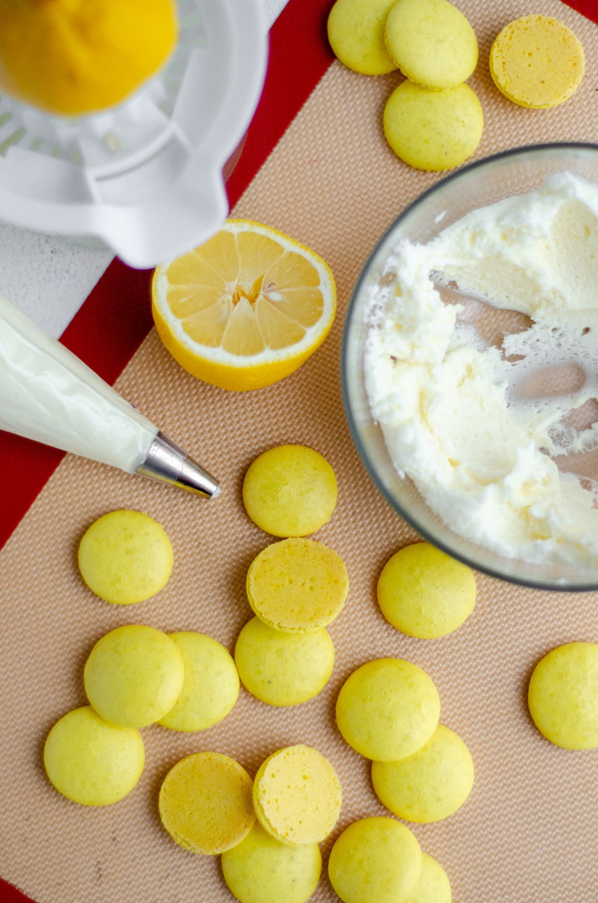
{"type": "Polygon", "coordinates": [[[334,647],[326,626],[349,591],[339,554],[307,538],[332,516],[337,485],[331,465],[303,445],[261,454],[248,469],[243,500],[249,517],[272,535],[248,569],[256,617],[235,647],[238,674],[263,703],[286,706],[319,694],[332,675],[334,647]]]}

